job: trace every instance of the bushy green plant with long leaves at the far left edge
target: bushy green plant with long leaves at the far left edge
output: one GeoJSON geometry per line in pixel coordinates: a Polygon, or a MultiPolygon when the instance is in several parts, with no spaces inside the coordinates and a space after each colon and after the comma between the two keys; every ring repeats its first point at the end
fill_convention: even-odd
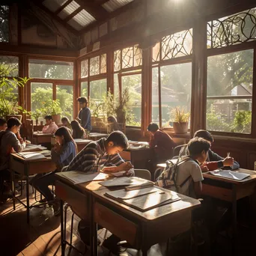
{"type": "Polygon", "coordinates": [[[7,76],[10,76],[10,70],[4,67],[4,64],[0,65],[0,116],[7,120],[15,117],[21,121],[22,115],[19,113],[23,109],[18,105],[18,97],[14,91],[18,87],[24,87],[29,79],[26,77],[8,79],[7,76]]]}

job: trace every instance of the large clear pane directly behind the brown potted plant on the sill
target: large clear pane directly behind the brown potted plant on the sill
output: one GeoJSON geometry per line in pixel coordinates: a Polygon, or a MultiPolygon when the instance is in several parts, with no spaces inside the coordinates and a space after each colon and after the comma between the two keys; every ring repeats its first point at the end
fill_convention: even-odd
{"type": "Polygon", "coordinates": [[[174,107],[190,112],[191,85],[192,63],[161,67],[162,127],[172,127],[174,107]]]}

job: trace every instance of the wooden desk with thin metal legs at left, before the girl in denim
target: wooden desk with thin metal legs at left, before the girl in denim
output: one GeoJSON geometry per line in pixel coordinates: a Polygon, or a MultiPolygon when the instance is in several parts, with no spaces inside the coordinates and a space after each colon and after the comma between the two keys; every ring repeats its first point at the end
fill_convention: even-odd
{"type": "Polygon", "coordinates": [[[16,198],[15,188],[14,188],[14,172],[22,174],[25,176],[26,180],[26,204],[23,204],[27,210],[27,222],[29,223],[29,185],[28,177],[33,174],[42,174],[46,172],[55,171],[56,165],[52,162],[50,157],[46,159],[37,159],[37,160],[25,160],[22,156],[12,153],[10,155],[10,170],[11,170],[11,183],[13,191],[13,210],[15,210],[15,199],[17,199],[21,204],[22,201],[19,198],[16,198]]]}

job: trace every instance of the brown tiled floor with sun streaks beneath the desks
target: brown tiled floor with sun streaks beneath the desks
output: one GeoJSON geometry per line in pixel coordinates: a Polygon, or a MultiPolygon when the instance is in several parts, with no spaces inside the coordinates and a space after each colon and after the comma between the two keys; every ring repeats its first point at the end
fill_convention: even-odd
{"type": "MultiPolygon", "coordinates": [[[[38,193],[37,193],[38,195],[38,193]]],[[[23,196],[24,197],[24,196],[23,196]]],[[[39,199],[39,195],[38,195],[39,199]]],[[[23,198],[25,202],[25,198],[23,198]]],[[[34,202],[34,194],[31,193],[31,203],[34,202]]],[[[242,208],[243,209],[243,208],[242,208]]],[[[242,215],[244,211],[242,210],[242,215]]],[[[67,240],[70,239],[70,224],[71,224],[71,211],[67,212],[67,240]]],[[[247,216],[245,214],[245,216],[247,216]]],[[[246,219],[242,218],[242,219],[246,219]]],[[[79,240],[76,235],[77,225],[79,218],[75,216],[74,231],[73,231],[73,245],[85,251],[84,244],[79,240]]],[[[241,222],[240,222],[241,223],[241,222]]],[[[238,225],[239,236],[237,240],[237,253],[240,255],[255,255],[255,240],[256,230],[249,226],[243,228],[243,225],[238,225]]],[[[12,201],[0,205],[0,255],[1,256],[39,256],[39,255],[61,255],[60,249],[60,217],[55,217],[52,208],[32,208],[31,209],[31,223],[26,223],[25,207],[16,203],[16,210],[13,211],[12,201]]],[[[159,231],[161,232],[161,231],[159,231]]],[[[100,240],[103,241],[105,230],[98,232],[100,240]]],[[[157,234],[156,234],[157,235],[157,234]]],[[[171,249],[168,255],[191,255],[189,252],[189,235],[179,241],[178,243],[171,243],[171,249]]],[[[149,256],[166,255],[166,244],[156,245],[150,249],[149,256]]],[[[76,250],[66,249],[66,255],[79,255],[76,250]]],[[[89,251],[85,255],[90,255],[89,251]]],[[[99,255],[109,255],[109,252],[99,247],[99,255]]],[[[121,254],[122,256],[128,255],[141,255],[133,249],[128,249],[121,254]]],[[[213,246],[210,253],[209,248],[204,246],[198,247],[198,255],[218,255],[229,256],[231,255],[230,240],[218,236],[217,243],[213,246]]]]}

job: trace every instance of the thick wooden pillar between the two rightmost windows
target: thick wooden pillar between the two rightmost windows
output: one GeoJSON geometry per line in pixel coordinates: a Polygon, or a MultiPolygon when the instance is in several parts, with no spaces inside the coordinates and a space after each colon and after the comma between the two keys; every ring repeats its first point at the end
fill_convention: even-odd
{"type": "Polygon", "coordinates": [[[207,101],[207,21],[198,19],[193,27],[191,136],[205,129],[207,101]]]}

